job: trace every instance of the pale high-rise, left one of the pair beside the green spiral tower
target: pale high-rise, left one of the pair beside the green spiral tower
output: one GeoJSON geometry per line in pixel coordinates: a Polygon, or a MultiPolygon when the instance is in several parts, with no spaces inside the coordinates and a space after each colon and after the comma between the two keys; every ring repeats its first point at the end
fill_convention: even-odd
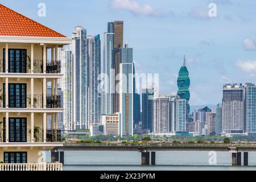
{"type": "Polygon", "coordinates": [[[170,98],[158,96],[153,98],[153,133],[170,133],[170,98]]]}

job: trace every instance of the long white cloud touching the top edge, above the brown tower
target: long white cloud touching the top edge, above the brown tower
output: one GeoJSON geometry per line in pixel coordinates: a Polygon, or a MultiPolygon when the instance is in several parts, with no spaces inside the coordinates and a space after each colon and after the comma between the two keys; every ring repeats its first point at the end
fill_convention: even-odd
{"type": "Polygon", "coordinates": [[[163,10],[154,9],[150,5],[139,5],[135,0],[113,0],[112,9],[126,10],[134,15],[144,16],[163,16],[166,14],[163,10]]]}

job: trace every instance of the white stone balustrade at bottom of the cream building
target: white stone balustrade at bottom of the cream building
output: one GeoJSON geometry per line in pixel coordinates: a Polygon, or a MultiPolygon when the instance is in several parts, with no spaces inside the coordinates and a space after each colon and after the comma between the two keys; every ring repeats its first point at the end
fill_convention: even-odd
{"type": "Polygon", "coordinates": [[[0,171],[62,171],[61,163],[0,164],[0,171]]]}

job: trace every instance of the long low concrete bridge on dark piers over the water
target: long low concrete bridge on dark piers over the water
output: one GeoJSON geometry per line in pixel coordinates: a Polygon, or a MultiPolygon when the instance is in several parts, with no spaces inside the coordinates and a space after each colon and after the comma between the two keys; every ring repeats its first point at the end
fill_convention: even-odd
{"type": "Polygon", "coordinates": [[[138,151],[141,164],[155,165],[157,151],[226,151],[232,153],[232,166],[248,165],[248,152],[256,151],[256,144],[173,144],[173,143],[64,143],[52,151],[52,162],[64,163],[64,151],[138,151]]]}

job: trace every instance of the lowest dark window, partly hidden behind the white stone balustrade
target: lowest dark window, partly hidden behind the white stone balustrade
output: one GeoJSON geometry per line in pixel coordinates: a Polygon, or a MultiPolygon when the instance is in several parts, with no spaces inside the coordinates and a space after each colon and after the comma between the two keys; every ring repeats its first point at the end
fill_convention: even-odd
{"type": "Polygon", "coordinates": [[[27,163],[27,152],[3,152],[5,163],[27,163]]]}

